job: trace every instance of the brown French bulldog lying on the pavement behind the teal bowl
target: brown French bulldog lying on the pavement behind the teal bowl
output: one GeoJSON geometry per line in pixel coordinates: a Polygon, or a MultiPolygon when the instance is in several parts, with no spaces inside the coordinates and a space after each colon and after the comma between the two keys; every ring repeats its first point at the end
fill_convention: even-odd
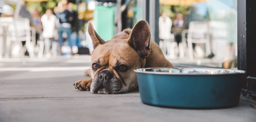
{"type": "Polygon", "coordinates": [[[134,69],[144,67],[174,67],[150,38],[148,23],[140,20],[132,29],[125,29],[105,42],[89,22],[92,38],[91,79],[77,81],[78,90],[92,93],[120,94],[138,86],[134,69]]]}

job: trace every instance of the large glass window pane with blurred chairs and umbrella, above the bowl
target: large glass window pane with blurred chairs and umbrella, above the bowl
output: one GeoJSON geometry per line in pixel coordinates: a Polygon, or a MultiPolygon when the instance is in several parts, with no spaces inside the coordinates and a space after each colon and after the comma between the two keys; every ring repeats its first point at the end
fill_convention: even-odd
{"type": "MultiPolygon", "coordinates": [[[[236,69],[237,1],[194,1],[188,5],[160,0],[160,13],[172,20],[170,35],[174,35],[174,39],[160,37],[159,44],[166,57],[174,64],[236,69]]],[[[163,32],[160,29],[163,28],[159,27],[159,35],[163,32]]]]}

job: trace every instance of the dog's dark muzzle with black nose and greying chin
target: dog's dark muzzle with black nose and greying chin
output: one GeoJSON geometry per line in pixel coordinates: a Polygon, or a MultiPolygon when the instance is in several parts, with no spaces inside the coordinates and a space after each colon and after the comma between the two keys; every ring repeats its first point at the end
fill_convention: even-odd
{"type": "Polygon", "coordinates": [[[90,89],[92,93],[120,94],[122,84],[112,72],[105,70],[94,77],[90,89]]]}

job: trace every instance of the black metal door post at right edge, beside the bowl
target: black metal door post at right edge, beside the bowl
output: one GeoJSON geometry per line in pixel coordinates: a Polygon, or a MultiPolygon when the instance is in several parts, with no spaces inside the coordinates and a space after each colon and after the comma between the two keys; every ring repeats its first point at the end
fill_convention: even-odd
{"type": "Polygon", "coordinates": [[[237,66],[245,70],[242,94],[256,100],[256,40],[255,4],[251,0],[237,0],[237,66]]]}

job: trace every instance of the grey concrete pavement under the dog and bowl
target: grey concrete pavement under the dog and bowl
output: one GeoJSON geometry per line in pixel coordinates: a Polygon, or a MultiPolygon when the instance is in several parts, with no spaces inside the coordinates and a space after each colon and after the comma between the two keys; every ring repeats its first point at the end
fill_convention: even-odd
{"type": "Polygon", "coordinates": [[[213,110],[162,108],[143,104],[138,90],[105,95],[78,91],[90,56],[0,59],[0,122],[188,121],[255,122],[255,101],[241,98],[237,107],[213,110]]]}

